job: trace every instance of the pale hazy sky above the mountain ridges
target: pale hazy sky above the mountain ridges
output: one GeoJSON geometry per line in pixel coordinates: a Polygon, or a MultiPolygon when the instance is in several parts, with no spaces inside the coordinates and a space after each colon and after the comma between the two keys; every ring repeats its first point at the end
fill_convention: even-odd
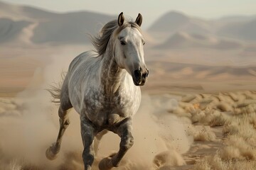
{"type": "MultiPolygon", "coordinates": [[[[0,0],[1,1],[1,0],[0,0]]],[[[4,0],[13,4],[26,4],[50,11],[96,11],[117,15],[121,11],[136,18],[144,16],[149,26],[156,18],[169,11],[182,11],[188,16],[220,18],[230,15],[255,15],[256,0],[4,0]]]]}

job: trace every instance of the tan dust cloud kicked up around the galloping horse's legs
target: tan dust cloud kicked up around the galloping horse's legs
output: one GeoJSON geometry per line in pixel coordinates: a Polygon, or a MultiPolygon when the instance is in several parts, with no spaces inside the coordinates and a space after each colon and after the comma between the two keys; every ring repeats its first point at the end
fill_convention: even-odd
{"type": "MultiPolygon", "coordinates": [[[[0,169],[83,169],[80,120],[73,109],[58,158],[49,161],[45,156],[59,128],[58,106],[50,102],[46,89],[61,81],[61,72],[73,59],[69,56],[75,55],[78,54],[65,50],[63,55],[53,55],[50,64],[36,69],[31,84],[16,98],[1,99],[0,169]]],[[[134,116],[134,146],[117,169],[161,169],[186,164],[182,154],[193,142],[186,134],[188,122],[168,112],[178,106],[178,99],[142,94],[141,107],[134,116]]],[[[119,141],[112,132],[102,138],[93,169],[97,169],[100,159],[117,152],[119,141]]]]}

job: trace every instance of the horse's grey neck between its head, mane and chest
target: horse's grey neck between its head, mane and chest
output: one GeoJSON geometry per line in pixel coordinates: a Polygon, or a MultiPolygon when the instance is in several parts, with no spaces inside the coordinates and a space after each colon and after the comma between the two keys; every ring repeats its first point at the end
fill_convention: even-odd
{"type": "Polygon", "coordinates": [[[107,46],[105,54],[102,56],[101,82],[107,94],[114,94],[119,86],[124,82],[127,71],[118,67],[114,60],[114,46],[112,42],[107,46]]]}

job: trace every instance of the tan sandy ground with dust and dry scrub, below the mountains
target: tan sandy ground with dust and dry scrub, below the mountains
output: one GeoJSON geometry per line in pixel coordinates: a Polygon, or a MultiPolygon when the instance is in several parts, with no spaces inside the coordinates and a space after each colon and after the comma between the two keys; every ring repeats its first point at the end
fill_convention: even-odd
{"type": "MultiPolygon", "coordinates": [[[[45,157],[58,132],[58,106],[45,89],[90,47],[12,48],[1,49],[0,169],[82,169],[75,111],[58,159],[45,157]]],[[[171,62],[171,57],[156,62],[154,53],[148,55],[151,72],[134,118],[135,144],[117,169],[253,169],[255,67],[171,62]]],[[[107,134],[94,169],[118,146],[119,137],[107,134]]]]}

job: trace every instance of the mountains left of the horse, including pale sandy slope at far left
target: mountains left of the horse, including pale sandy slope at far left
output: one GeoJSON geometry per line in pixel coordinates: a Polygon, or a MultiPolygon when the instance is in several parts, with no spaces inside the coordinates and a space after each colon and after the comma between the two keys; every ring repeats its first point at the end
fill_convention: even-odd
{"type": "Polygon", "coordinates": [[[87,43],[90,42],[88,33],[94,35],[105,23],[115,18],[116,16],[87,11],[54,13],[0,1],[0,41],[14,40],[15,36],[11,34],[14,30],[15,35],[18,35],[22,33],[22,28],[28,26],[29,23],[35,23],[36,26],[31,30],[33,32],[31,42],[87,43]],[[11,22],[15,24],[11,24],[11,22]],[[4,23],[8,23],[8,25],[4,23]],[[2,36],[4,40],[2,40],[2,36]]]}

